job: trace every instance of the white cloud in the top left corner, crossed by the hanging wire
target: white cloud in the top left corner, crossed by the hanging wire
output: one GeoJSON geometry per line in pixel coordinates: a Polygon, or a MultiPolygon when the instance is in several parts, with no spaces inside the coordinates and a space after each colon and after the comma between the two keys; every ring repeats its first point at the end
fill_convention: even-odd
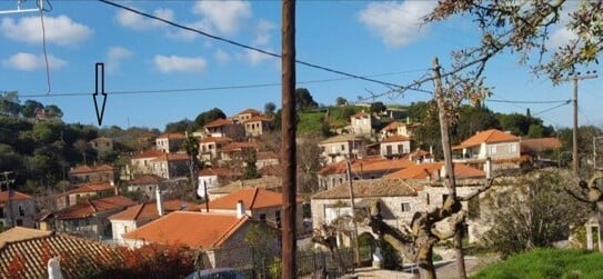
{"type": "MultiPolygon", "coordinates": [[[[14,21],[12,18],[2,19],[2,34],[16,41],[39,43],[42,41],[42,24],[39,17],[24,17],[14,21]]],[[[72,21],[67,16],[44,17],[47,42],[60,46],[77,44],[92,34],[89,27],[72,21]]]]}

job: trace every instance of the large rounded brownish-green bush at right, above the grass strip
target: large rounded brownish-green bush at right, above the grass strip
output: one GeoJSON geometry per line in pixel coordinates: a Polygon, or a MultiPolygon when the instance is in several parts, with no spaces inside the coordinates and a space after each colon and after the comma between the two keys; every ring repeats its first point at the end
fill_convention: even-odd
{"type": "Polygon", "coordinates": [[[559,171],[531,172],[509,182],[481,201],[482,208],[496,209],[484,217],[493,223],[484,235],[485,243],[503,256],[552,247],[567,239],[570,228],[583,226],[591,213],[586,203],[565,192],[566,181],[559,171]]]}

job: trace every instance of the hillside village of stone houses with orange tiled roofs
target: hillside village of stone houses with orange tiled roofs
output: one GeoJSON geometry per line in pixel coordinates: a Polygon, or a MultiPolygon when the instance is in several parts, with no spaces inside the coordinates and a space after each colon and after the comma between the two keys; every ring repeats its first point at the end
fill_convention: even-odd
{"type": "MultiPolygon", "coordinates": [[[[400,227],[410,223],[414,212],[441,205],[448,195],[443,162],[433,147],[421,149],[414,140],[423,123],[411,121],[401,109],[371,112],[370,106],[356,106],[355,110],[331,136],[298,140],[311,147],[299,156],[314,159],[300,163],[299,178],[311,173],[304,168],[318,163],[310,187],[299,179],[297,232],[299,242],[305,243],[299,249],[306,249],[325,225],[335,223],[341,248],[352,247],[354,236],[374,242],[369,226],[360,222],[356,231],[351,229],[350,217],[366,217],[371,202],[378,201],[383,221],[400,227]]],[[[148,149],[124,155],[127,162],[119,167],[74,166],[67,172],[69,187],[46,197],[46,203],[22,190],[2,191],[0,222],[8,230],[0,235],[0,271],[18,266],[19,272],[37,272],[24,277],[43,275],[46,265],[33,259],[67,250],[78,255],[91,246],[113,255],[105,259],[82,253],[92,266],[102,261],[96,266],[102,269],[123,257],[120,249],[149,245],[202,251],[195,262],[204,268],[249,267],[257,262],[247,236],[257,230],[270,232],[265,236],[271,239],[263,240],[270,247],[265,255],[278,256],[281,160],[271,137],[277,137],[274,114],[247,109],[208,121],[195,131],[159,134],[148,149]],[[194,152],[187,150],[187,142],[194,143],[194,152]],[[31,253],[27,258],[21,255],[24,247],[31,253]]],[[[109,137],[88,143],[100,152],[119,145],[109,137]]],[[[475,192],[495,173],[513,177],[526,168],[556,167],[562,146],[553,137],[525,139],[499,129],[478,131],[453,147],[459,195],[475,192]]],[[[479,242],[492,226],[484,205],[480,199],[463,202],[470,243],[479,242]]],[[[363,260],[379,266],[383,256],[374,249],[372,253],[378,255],[365,253],[363,260]]],[[[69,266],[63,272],[78,276],[69,266]]]]}

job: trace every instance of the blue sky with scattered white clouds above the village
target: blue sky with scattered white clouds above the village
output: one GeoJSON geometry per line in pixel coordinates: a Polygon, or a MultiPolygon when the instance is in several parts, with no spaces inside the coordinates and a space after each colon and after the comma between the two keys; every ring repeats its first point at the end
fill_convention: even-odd
{"type": "MultiPolygon", "coordinates": [[[[48,92],[41,18],[38,12],[0,14],[0,90],[19,91],[21,101],[58,104],[67,122],[97,124],[92,92],[94,63],[105,64],[109,93],[103,126],[143,126],[194,119],[214,107],[227,114],[247,108],[280,107],[280,60],[189,31],[169,27],[99,1],[54,0],[44,12],[46,51],[50,64],[48,92]],[[224,89],[230,88],[230,89],[224,89]],[[198,89],[185,92],[115,93],[198,89]],[[73,96],[68,96],[73,94],[73,96]]],[[[280,53],[281,1],[119,1],[174,22],[280,53]]],[[[33,8],[33,0],[22,9],[33,8]]],[[[478,40],[475,26],[462,18],[433,24],[419,19],[431,1],[298,1],[297,58],[335,70],[395,84],[409,84],[424,74],[434,57],[444,69],[451,50],[478,40]]],[[[17,0],[1,1],[13,10],[17,0]]],[[[567,39],[553,30],[552,46],[567,39]]],[[[601,72],[599,66],[589,68],[601,72]]],[[[298,64],[298,88],[308,88],[319,103],[350,101],[389,89],[298,64]]],[[[555,101],[572,97],[572,84],[553,87],[530,76],[516,57],[505,54],[489,64],[493,100],[555,101]]],[[[580,83],[580,123],[602,126],[602,78],[580,83]]],[[[431,90],[426,84],[424,89],[431,90]]],[[[430,94],[408,91],[385,96],[384,103],[408,104],[430,94]]],[[[527,108],[546,124],[571,127],[572,107],[486,101],[500,112],[525,113],[527,108]]]]}

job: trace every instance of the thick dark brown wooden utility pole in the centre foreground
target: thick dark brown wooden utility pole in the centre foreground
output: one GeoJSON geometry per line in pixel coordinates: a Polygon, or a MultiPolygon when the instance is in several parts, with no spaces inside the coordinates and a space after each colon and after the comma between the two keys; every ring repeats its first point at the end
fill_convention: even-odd
{"type": "Polygon", "coordinates": [[[295,243],[295,0],[282,0],[282,128],[283,168],[282,271],[281,278],[297,277],[295,243]]]}

